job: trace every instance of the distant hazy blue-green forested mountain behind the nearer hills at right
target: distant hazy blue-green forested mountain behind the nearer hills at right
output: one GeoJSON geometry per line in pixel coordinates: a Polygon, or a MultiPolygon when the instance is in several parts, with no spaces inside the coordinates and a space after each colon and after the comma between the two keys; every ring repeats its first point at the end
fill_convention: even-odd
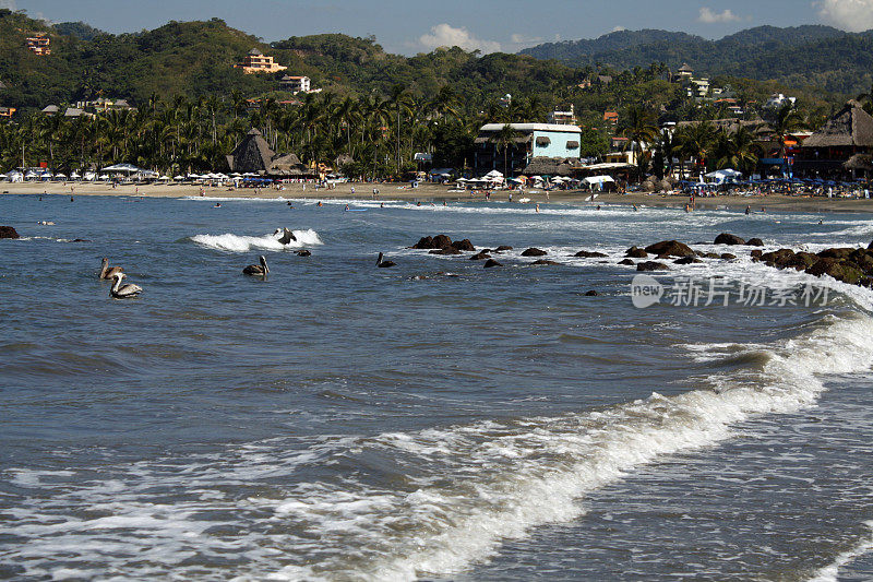
{"type": "Polygon", "coordinates": [[[549,43],[522,51],[576,68],[617,69],[689,63],[698,74],[729,74],[790,85],[857,93],[871,84],[873,32],[851,34],[822,25],[758,26],[719,40],[666,31],[622,31],[593,40],[549,43]]]}

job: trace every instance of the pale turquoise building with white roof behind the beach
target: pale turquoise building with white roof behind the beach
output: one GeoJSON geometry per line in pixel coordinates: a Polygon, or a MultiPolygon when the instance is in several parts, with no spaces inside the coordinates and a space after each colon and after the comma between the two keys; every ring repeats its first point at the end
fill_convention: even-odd
{"type": "MultiPolygon", "coordinates": [[[[512,145],[506,149],[506,174],[523,170],[535,157],[555,159],[579,158],[579,135],[576,126],[555,123],[509,123],[514,131],[512,145]]],[[[499,135],[505,126],[488,123],[479,128],[476,138],[477,169],[504,170],[504,152],[499,135]]]]}

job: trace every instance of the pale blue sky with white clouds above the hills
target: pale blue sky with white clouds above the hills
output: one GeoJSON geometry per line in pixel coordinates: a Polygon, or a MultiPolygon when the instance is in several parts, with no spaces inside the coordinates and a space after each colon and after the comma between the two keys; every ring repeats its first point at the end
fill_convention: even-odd
{"type": "Polygon", "coordinates": [[[266,41],[319,33],[373,35],[385,50],[403,55],[453,45],[516,52],[622,28],[706,38],[764,24],[873,28],[873,0],[0,0],[0,8],[50,22],[83,21],[110,33],[219,17],[266,41]]]}

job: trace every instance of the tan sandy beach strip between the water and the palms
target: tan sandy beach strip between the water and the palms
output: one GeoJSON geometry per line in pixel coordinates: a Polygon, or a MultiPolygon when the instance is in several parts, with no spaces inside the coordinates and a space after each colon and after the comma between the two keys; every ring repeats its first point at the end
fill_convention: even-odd
{"type": "MultiPolygon", "coordinates": [[[[380,191],[380,200],[406,201],[471,201],[483,200],[482,195],[470,195],[468,192],[453,192],[450,187],[441,185],[422,185],[415,189],[402,187],[396,183],[340,183],[335,189],[315,190],[312,185],[307,185],[306,190],[299,183],[286,185],[285,190],[275,188],[204,188],[204,195],[210,198],[306,198],[313,200],[331,199],[366,199],[373,198],[373,188],[380,191]],[[355,193],[351,189],[355,188],[355,193]]],[[[2,194],[63,194],[63,195],[141,195],[148,198],[182,198],[198,197],[201,187],[196,185],[123,185],[112,188],[104,183],[60,183],[60,182],[25,182],[0,183],[2,194]]],[[[0,195],[2,195],[0,194],[0,195]]],[[[588,202],[588,192],[583,191],[527,191],[513,192],[513,199],[529,198],[531,204],[564,203],[564,204],[636,204],[637,206],[677,206],[683,207],[687,202],[686,195],[665,195],[654,193],[631,194],[599,194],[595,202],[588,202]]],[[[499,191],[491,195],[491,200],[507,200],[509,192],[499,191]]],[[[799,211],[799,212],[873,212],[873,200],[826,199],[812,197],[728,197],[697,198],[697,207],[740,207],[746,205],[760,211],[762,207],[772,211],[799,211]]]]}

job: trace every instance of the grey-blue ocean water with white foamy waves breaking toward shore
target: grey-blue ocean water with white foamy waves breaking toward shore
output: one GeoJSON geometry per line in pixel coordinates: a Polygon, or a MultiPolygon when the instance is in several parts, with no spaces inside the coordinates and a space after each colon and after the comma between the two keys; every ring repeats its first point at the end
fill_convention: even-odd
{"type": "Polygon", "coordinates": [[[711,245],[870,215],[215,202],[0,197],[0,579],[873,579],[873,293],[711,245]],[[668,292],[822,300],[637,309],[665,239],[738,257],[668,292]]]}

